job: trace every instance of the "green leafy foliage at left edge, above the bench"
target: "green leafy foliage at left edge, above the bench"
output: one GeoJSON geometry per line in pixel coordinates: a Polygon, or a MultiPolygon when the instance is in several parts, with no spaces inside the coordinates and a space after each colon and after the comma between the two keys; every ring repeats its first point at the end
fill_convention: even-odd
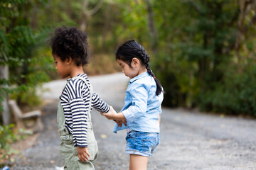
{"type": "Polygon", "coordinates": [[[27,13],[31,13],[35,5],[45,2],[0,2],[0,66],[7,64],[11,75],[8,80],[0,80],[0,91],[3,94],[0,101],[8,94],[13,94],[19,103],[29,106],[40,103],[35,87],[48,81],[47,72],[53,70],[47,57],[40,53],[40,46],[45,45],[50,28],[33,29],[27,13]]]}

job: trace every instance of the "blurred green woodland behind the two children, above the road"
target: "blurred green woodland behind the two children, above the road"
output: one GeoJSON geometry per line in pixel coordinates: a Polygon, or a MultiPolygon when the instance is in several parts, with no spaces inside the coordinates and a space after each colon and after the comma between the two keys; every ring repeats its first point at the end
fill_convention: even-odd
{"type": "Polygon", "coordinates": [[[9,98],[34,109],[36,88],[58,79],[47,40],[63,25],[88,33],[89,76],[120,72],[115,51],[135,39],[164,86],[163,106],[256,116],[255,24],[255,0],[1,0],[0,136],[12,123],[9,98]]]}

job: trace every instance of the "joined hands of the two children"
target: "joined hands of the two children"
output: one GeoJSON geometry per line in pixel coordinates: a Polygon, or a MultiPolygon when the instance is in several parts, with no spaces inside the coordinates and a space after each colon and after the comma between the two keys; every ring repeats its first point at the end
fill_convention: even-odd
{"type": "Polygon", "coordinates": [[[124,123],[125,126],[127,126],[127,120],[125,120],[124,114],[117,113],[114,111],[114,108],[110,106],[110,111],[108,113],[100,113],[101,115],[104,115],[108,120],[114,120],[119,127],[122,126],[122,123],[124,123]]]}

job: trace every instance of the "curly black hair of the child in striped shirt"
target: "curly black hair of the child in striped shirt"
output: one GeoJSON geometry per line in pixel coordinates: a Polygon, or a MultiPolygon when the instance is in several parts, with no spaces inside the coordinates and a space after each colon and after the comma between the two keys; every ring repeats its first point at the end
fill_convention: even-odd
{"type": "Polygon", "coordinates": [[[87,34],[76,27],[55,28],[55,34],[48,40],[52,55],[57,55],[60,60],[71,57],[77,66],[88,63],[87,34]]]}

